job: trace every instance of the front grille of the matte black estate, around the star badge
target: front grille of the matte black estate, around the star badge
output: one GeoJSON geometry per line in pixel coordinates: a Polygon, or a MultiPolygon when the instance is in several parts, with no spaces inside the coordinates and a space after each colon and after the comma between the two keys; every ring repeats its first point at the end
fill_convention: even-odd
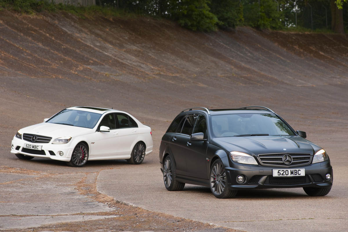
{"type": "Polygon", "coordinates": [[[301,165],[307,165],[311,161],[310,153],[274,153],[274,154],[259,154],[259,161],[265,166],[278,166],[278,167],[295,167],[301,165]],[[287,164],[283,161],[284,155],[290,155],[292,162],[287,164]]]}

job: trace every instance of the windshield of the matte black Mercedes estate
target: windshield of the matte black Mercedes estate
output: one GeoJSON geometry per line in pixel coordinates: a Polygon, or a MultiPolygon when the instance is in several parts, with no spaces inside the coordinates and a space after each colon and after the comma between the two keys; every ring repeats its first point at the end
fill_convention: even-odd
{"type": "Polygon", "coordinates": [[[214,137],[295,135],[275,114],[223,114],[212,116],[214,137]]]}

